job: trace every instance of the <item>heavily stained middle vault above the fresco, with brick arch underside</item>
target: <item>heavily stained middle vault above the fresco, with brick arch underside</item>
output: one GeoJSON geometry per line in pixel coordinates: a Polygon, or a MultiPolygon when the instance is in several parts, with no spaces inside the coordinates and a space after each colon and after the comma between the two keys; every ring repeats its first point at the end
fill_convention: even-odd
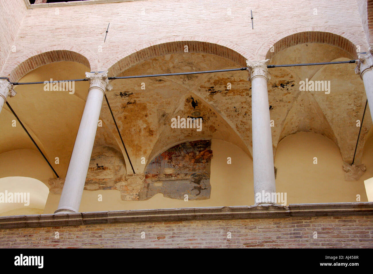
{"type": "MultiPolygon", "coordinates": [[[[132,53],[113,64],[109,74],[128,76],[237,68],[245,66],[245,60],[241,54],[223,45],[175,41],[152,45],[132,53]],[[188,46],[188,51],[184,51],[184,46],[188,46]]],[[[184,107],[186,97],[199,98],[200,103],[213,111],[210,120],[221,117],[221,122],[233,129],[232,136],[238,136],[237,141],[232,141],[229,134],[225,137],[208,135],[203,138],[228,138],[226,141],[251,153],[250,82],[247,81],[247,72],[122,79],[112,81],[112,85],[113,89],[106,95],[120,133],[126,136],[125,145],[136,173],[144,170],[142,157],[148,161],[169,143],[167,138],[172,136],[164,135],[165,139],[160,137],[170,126],[169,120],[179,108],[184,107]],[[238,99],[234,103],[232,96],[238,99]],[[238,116],[244,119],[242,123],[236,122],[238,116]]],[[[188,115],[191,116],[190,113],[188,115]]],[[[102,116],[110,117],[106,108],[102,109],[102,116]]],[[[115,130],[109,120],[107,125],[115,130]]],[[[213,123],[205,129],[218,132],[217,126],[213,123]]],[[[177,142],[191,137],[201,138],[200,135],[172,138],[173,142],[177,142]]],[[[124,158],[129,166],[127,157],[124,158]]]]}

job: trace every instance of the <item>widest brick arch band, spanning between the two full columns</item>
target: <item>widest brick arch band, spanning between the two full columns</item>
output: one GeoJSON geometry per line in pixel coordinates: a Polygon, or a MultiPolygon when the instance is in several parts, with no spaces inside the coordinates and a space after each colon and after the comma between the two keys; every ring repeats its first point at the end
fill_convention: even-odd
{"type": "Polygon", "coordinates": [[[254,56],[251,52],[230,42],[213,38],[179,37],[166,38],[132,48],[110,60],[103,67],[109,71],[110,76],[116,76],[129,67],[150,58],[184,53],[185,45],[188,45],[189,53],[214,54],[232,60],[242,67],[246,66],[246,60],[251,60],[254,56]]]}

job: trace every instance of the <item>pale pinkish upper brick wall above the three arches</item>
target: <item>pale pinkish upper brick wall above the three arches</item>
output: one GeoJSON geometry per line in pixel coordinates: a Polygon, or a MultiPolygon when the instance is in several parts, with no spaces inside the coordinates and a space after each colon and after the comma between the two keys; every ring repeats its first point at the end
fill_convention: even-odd
{"type": "MultiPolygon", "coordinates": [[[[20,5],[22,1],[16,2],[20,5]]],[[[8,2],[1,0],[4,10],[20,10],[9,7],[8,2]]],[[[362,51],[367,45],[359,15],[361,5],[356,1],[146,0],[36,6],[28,9],[23,17],[16,18],[17,27],[8,35],[12,41],[8,44],[16,45],[16,51],[10,51],[2,76],[12,73],[29,57],[51,49],[78,52],[88,59],[92,71],[101,71],[136,51],[172,41],[219,44],[246,59],[264,59],[275,42],[305,31],[341,35],[354,45],[361,45],[362,51]],[[254,29],[251,28],[251,10],[254,29]]],[[[0,37],[4,39],[2,32],[0,37]]]]}

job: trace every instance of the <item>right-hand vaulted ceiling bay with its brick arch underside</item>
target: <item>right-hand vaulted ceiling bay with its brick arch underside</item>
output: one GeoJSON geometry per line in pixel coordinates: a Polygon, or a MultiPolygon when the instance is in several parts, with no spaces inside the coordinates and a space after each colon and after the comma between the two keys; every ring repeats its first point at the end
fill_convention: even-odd
{"type": "MultiPolygon", "coordinates": [[[[329,32],[300,32],[282,38],[267,52],[270,64],[335,62],[354,59],[355,45],[329,32]]],[[[268,82],[272,141],[276,148],[286,136],[315,132],[333,140],[344,164],[352,163],[366,94],[354,64],[275,67],[268,82]],[[302,84],[303,83],[303,84],[302,84]],[[307,88],[304,88],[307,83],[307,88]],[[314,88],[310,84],[315,84],[314,88]],[[322,84],[322,85],[321,85],[322,84]]],[[[361,164],[364,138],[372,126],[365,116],[355,164],[361,164]]]]}

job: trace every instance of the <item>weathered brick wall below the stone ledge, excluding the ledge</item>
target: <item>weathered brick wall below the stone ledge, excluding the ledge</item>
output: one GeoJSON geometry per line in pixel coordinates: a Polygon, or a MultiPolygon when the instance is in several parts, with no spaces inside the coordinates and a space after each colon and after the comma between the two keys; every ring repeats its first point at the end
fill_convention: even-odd
{"type": "Polygon", "coordinates": [[[0,229],[0,248],[373,248],[373,216],[159,221],[0,229]],[[55,239],[59,232],[59,239],[55,239]],[[141,232],[145,239],[141,239],[141,232]],[[232,238],[227,239],[227,232],[232,238]],[[317,239],[314,239],[317,232],[317,239]]]}

